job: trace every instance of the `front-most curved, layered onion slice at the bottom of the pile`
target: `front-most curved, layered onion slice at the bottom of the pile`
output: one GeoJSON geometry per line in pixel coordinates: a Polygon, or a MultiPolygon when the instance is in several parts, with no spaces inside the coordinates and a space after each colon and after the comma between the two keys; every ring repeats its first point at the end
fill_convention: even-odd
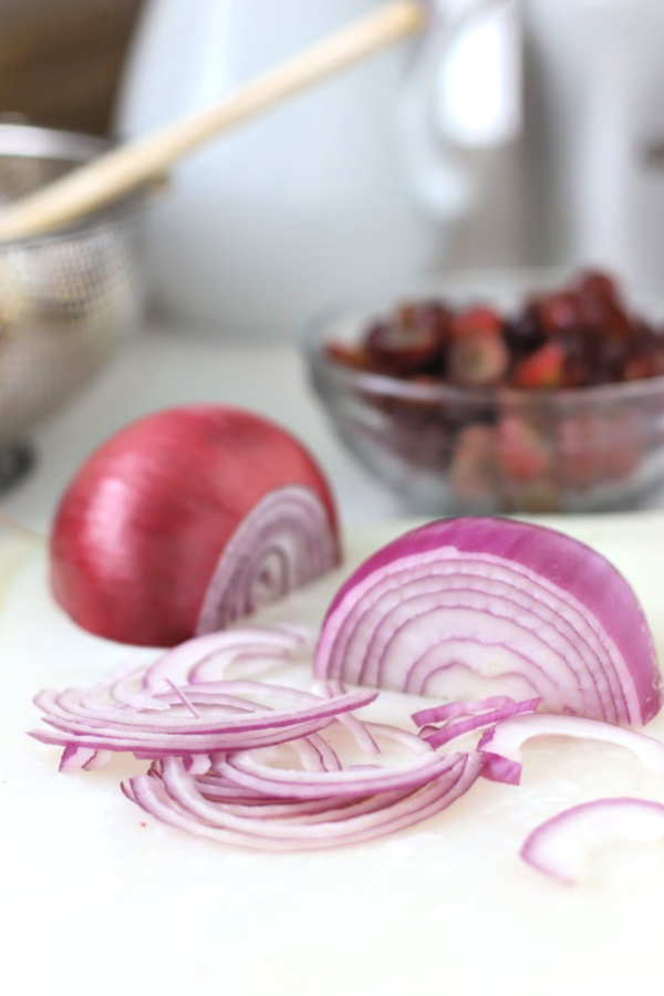
{"type": "Polygon", "coordinates": [[[264,806],[242,807],[210,799],[209,778],[191,776],[179,759],[165,758],[147,775],[132,778],[123,789],[147,812],[199,837],[245,848],[290,851],[361,843],[418,823],[468,791],[480,769],[477,754],[448,755],[445,765],[436,774],[432,771],[425,784],[415,780],[401,789],[360,798],[333,793],[287,802],[266,795],[264,806]]]}

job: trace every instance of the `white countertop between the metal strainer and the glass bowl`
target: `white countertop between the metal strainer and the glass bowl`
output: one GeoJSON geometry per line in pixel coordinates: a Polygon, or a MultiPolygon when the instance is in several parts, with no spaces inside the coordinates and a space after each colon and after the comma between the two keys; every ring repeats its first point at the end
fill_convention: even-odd
{"type": "Polygon", "coordinates": [[[328,474],[346,523],[400,516],[396,500],[333,436],[295,343],[242,345],[221,333],[195,335],[160,324],[134,336],[83,394],[32,435],[37,464],[4,496],[0,511],[45,530],[76,468],[117,428],[157,408],[201,401],[261,412],[293,432],[328,474]]]}

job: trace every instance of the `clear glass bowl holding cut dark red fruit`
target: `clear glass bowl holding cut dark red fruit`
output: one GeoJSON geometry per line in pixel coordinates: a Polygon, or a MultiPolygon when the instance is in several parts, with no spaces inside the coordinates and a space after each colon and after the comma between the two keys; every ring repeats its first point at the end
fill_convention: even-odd
{"type": "MultiPolygon", "coordinates": [[[[634,509],[664,485],[664,377],[556,392],[466,390],[355,371],[326,356],[404,301],[513,307],[560,287],[559,271],[426,280],[317,318],[304,339],[311,384],[338,436],[415,515],[634,509]]],[[[661,302],[629,295],[645,317],[661,302]]]]}

